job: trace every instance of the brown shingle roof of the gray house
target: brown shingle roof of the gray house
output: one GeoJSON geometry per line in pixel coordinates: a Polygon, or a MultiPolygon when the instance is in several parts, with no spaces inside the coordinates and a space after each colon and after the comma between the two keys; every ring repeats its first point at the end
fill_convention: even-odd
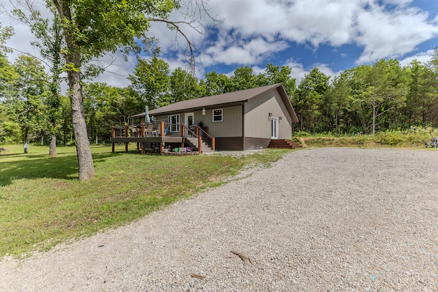
{"type": "MultiPolygon", "coordinates": [[[[282,83],[276,83],[273,85],[266,85],[259,88],[250,88],[247,90],[240,90],[235,92],[228,92],[224,94],[218,94],[214,96],[206,96],[201,98],[194,98],[188,101],[180,101],[179,103],[172,103],[172,105],[166,105],[165,107],[159,107],[157,109],[152,109],[149,111],[149,115],[162,115],[162,114],[175,114],[181,111],[186,110],[200,110],[200,109],[209,109],[211,107],[217,107],[219,105],[233,105],[244,103],[249,101],[252,98],[259,96],[265,92],[270,90],[277,89],[285,103],[287,111],[289,111],[290,116],[292,117],[292,122],[298,122],[298,118],[296,117],[294,108],[287,97],[285,88],[282,83]]],[[[145,116],[146,113],[136,114],[133,118],[141,118],[145,116]]]]}

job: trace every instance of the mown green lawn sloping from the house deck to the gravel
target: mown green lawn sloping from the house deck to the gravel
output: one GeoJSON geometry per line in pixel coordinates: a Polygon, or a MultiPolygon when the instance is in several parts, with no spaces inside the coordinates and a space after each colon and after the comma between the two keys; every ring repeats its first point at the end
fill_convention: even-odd
{"type": "Polygon", "coordinates": [[[0,152],[0,257],[26,256],[57,243],[133,222],[188,198],[250,165],[269,166],[287,150],[255,155],[159,156],[92,147],[95,178],[77,180],[75,147],[4,146],[0,152]]]}

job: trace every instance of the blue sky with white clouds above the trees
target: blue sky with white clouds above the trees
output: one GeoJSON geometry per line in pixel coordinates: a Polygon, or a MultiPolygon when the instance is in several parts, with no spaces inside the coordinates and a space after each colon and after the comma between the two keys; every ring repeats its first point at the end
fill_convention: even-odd
{"type": "MultiPolygon", "coordinates": [[[[207,5],[209,14],[222,18],[222,23],[200,18],[203,34],[183,27],[201,52],[196,59],[199,78],[212,70],[231,75],[240,66],[259,73],[273,63],[291,67],[298,84],[315,67],[333,77],[381,58],[396,58],[403,65],[413,59],[426,62],[438,47],[436,0],[210,0],[207,5]]],[[[171,18],[181,20],[181,13],[171,18]]],[[[23,42],[32,40],[25,27],[4,21],[3,25],[16,29],[11,47],[35,53],[23,42]]],[[[183,67],[184,41],[177,37],[181,47],[175,47],[175,32],[159,23],[151,32],[159,38],[170,68],[183,67]]],[[[108,55],[101,62],[110,60],[111,72],[97,81],[129,85],[126,77],[136,58],[124,62],[108,55]]]]}

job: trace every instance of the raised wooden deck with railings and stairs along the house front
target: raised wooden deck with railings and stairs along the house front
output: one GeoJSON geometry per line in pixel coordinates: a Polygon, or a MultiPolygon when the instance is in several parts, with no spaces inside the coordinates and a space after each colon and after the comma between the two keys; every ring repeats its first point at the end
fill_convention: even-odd
{"type": "MultiPolygon", "coordinates": [[[[158,144],[159,153],[169,155],[164,152],[166,144],[179,144],[180,147],[190,147],[194,151],[203,152],[203,147],[206,151],[215,150],[215,139],[210,137],[203,129],[198,126],[189,129],[184,124],[168,124],[165,122],[131,125],[125,127],[112,127],[112,152],[114,152],[116,143],[125,144],[125,152],[128,152],[129,143],[137,143],[138,150],[141,149],[144,154],[146,144],[158,144]],[[170,131],[174,130],[174,131],[170,131]]],[[[157,147],[157,148],[158,148],[157,147]]],[[[188,153],[191,153],[188,152],[188,153]]],[[[181,155],[184,152],[181,152],[181,155]]]]}

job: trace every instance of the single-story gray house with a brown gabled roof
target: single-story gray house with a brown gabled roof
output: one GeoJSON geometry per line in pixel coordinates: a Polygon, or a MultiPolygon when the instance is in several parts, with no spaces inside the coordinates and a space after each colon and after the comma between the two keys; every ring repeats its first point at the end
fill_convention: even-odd
{"type": "MultiPolygon", "coordinates": [[[[153,109],[149,116],[166,123],[165,135],[179,135],[184,125],[194,135],[214,137],[216,150],[255,150],[271,141],[282,148],[274,140],[293,148],[292,125],[298,122],[282,83],[181,101],[153,109]]],[[[146,112],[133,118],[144,123],[146,112]]]]}

